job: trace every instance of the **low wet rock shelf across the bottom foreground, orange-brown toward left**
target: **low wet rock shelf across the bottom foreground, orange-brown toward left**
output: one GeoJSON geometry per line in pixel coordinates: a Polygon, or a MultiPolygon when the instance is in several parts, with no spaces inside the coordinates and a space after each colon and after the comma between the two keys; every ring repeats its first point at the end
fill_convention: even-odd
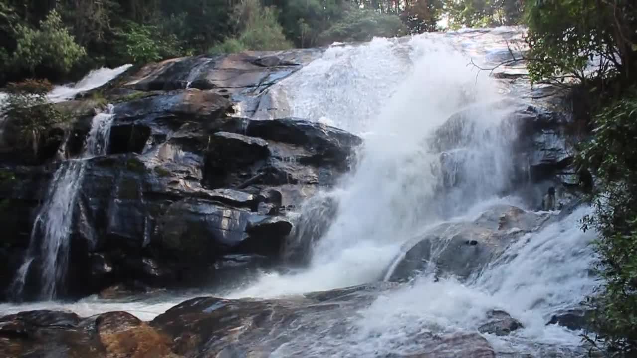
{"type": "MultiPolygon", "coordinates": [[[[3,357],[324,357],[347,340],[354,310],[390,286],[366,285],[290,299],[252,301],[198,297],[151,322],[125,312],[81,318],[74,313],[30,311],[0,319],[3,357]]],[[[493,358],[477,333],[418,333],[404,343],[373,348],[403,358],[493,358]]],[[[336,349],[343,349],[339,347],[336,349]]],[[[340,352],[343,354],[343,352],[340,352]]]]}

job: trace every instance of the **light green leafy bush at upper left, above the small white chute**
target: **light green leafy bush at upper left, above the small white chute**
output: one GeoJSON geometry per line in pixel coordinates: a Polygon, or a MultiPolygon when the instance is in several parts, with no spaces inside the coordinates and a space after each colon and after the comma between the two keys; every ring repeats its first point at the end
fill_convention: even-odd
{"type": "Polygon", "coordinates": [[[38,66],[68,73],[73,64],[86,55],[55,10],[40,23],[39,29],[17,25],[16,36],[17,48],[13,53],[13,62],[15,66],[27,68],[31,73],[38,66]]]}

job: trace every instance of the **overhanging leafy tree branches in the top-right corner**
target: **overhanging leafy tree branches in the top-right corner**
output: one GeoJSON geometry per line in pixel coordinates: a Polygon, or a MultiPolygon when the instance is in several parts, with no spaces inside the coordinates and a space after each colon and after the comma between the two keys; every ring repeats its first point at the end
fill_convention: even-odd
{"type": "Polygon", "coordinates": [[[636,68],[637,8],[629,1],[528,4],[527,67],[534,82],[599,82],[636,68]]]}

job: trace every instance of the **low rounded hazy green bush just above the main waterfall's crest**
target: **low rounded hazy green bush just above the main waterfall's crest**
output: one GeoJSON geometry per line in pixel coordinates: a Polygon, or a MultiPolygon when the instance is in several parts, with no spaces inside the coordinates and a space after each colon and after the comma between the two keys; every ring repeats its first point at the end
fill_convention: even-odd
{"type": "Polygon", "coordinates": [[[334,41],[369,41],[375,36],[395,37],[406,34],[405,25],[396,15],[381,15],[369,10],[351,10],[327,31],[320,34],[320,43],[334,41]]]}

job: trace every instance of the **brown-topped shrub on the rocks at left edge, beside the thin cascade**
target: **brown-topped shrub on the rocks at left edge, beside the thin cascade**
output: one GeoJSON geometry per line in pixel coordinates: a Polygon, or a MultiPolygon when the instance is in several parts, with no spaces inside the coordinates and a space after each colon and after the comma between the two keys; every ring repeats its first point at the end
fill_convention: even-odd
{"type": "Polygon", "coordinates": [[[46,132],[68,119],[48,102],[47,92],[51,87],[50,83],[38,80],[10,83],[7,87],[9,96],[0,110],[6,116],[11,144],[31,150],[33,155],[38,154],[46,132]]]}

